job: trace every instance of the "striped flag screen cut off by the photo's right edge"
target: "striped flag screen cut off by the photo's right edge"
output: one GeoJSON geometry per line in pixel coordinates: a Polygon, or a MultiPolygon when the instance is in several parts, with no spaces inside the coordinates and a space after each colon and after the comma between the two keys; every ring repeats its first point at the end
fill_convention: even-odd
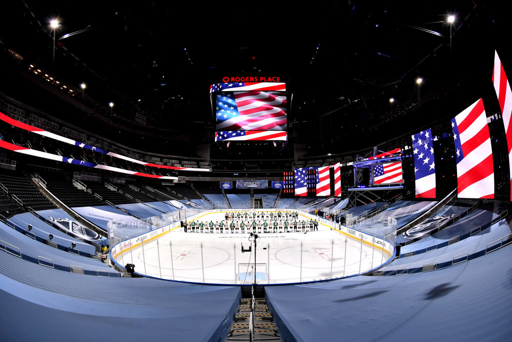
{"type": "Polygon", "coordinates": [[[503,125],[505,126],[505,135],[508,145],[508,167],[510,172],[510,199],[512,200],[512,127],[510,127],[510,117],[512,116],[512,91],[508,83],[507,75],[501,64],[498,52],[494,54],[493,83],[498,102],[500,103],[503,125]]]}

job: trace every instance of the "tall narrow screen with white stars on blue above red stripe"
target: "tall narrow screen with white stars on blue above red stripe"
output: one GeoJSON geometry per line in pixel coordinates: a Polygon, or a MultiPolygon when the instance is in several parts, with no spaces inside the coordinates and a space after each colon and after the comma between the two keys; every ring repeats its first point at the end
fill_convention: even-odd
{"type": "Polygon", "coordinates": [[[431,129],[412,135],[416,198],[436,197],[436,165],[431,129]]]}

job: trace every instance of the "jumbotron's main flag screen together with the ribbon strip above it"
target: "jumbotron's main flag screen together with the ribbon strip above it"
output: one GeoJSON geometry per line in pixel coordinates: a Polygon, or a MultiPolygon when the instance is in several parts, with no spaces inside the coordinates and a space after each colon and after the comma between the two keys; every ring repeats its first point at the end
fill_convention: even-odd
{"type": "Polygon", "coordinates": [[[287,130],[284,83],[218,83],[210,93],[218,132],[287,130]]]}

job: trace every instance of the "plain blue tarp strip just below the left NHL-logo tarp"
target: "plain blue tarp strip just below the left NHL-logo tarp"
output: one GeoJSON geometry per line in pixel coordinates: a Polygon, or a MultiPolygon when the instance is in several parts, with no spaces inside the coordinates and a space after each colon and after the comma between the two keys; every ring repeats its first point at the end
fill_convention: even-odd
{"type": "Polygon", "coordinates": [[[37,218],[31,213],[14,215],[9,218],[7,222],[14,224],[16,226],[16,230],[18,231],[26,231],[28,229],[28,225],[32,225],[31,232],[36,235],[40,242],[46,241],[48,236],[52,234],[52,241],[55,242],[60,249],[68,249],[71,247],[72,243],[75,243],[75,249],[79,250],[80,252],[85,254],[96,254],[96,247],[93,245],[86,244],[72,236],[69,236],[66,233],[61,232],[56,228],[53,228],[45,222],[42,222],[41,219],[37,218]]]}

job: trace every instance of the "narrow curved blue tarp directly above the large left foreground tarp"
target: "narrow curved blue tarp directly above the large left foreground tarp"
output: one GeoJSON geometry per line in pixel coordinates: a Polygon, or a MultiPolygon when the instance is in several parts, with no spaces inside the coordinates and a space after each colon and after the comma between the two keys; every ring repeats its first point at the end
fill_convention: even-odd
{"type": "MultiPolygon", "coordinates": [[[[71,272],[71,265],[83,268],[84,274],[105,276],[110,275],[111,277],[120,276],[120,273],[116,270],[108,267],[106,264],[99,260],[79,256],[73,253],[61,251],[42,244],[32,238],[23,235],[11,227],[0,222],[0,239],[4,240],[13,246],[19,248],[19,253],[22,254],[24,260],[31,261],[32,263],[50,266],[53,261],[53,266],[57,270],[71,272]],[[38,257],[44,257],[47,259],[38,259],[38,257]]],[[[3,248],[3,244],[2,248],[3,248]]],[[[12,249],[11,252],[18,254],[17,249],[12,249]]],[[[0,251],[0,253],[3,253],[0,251]]]]}

